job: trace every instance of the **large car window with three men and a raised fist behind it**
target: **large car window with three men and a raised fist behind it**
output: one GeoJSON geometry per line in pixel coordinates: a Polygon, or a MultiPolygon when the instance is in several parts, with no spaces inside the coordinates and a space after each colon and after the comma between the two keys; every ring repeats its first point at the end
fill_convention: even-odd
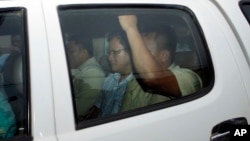
{"type": "Polygon", "coordinates": [[[182,6],[61,6],[76,129],[206,94],[213,67],[195,16],[182,6]]]}

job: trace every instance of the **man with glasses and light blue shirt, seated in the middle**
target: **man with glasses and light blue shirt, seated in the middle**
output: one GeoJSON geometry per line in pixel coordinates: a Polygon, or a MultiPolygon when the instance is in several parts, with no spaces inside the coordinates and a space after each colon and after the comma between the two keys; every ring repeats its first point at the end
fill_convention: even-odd
{"type": "Polygon", "coordinates": [[[96,104],[102,117],[169,100],[165,96],[144,92],[140,87],[133,75],[126,35],[121,32],[113,33],[108,38],[109,61],[114,73],[105,79],[103,93],[96,104]],[[124,95],[128,95],[125,104],[124,95]]]}

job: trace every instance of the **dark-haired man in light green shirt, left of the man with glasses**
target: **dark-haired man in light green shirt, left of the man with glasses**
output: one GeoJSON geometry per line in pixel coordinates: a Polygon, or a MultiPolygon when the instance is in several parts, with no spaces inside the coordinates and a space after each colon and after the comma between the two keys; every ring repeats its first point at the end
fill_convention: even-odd
{"type": "Polygon", "coordinates": [[[90,39],[72,36],[67,48],[72,69],[76,111],[78,120],[81,121],[100,96],[105,74],[93,57],[90,39]]]}

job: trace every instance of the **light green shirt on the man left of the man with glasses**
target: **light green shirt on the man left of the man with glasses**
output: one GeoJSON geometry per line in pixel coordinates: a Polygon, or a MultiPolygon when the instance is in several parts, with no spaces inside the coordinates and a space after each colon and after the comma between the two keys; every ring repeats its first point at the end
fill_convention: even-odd
{"type": "Polygon", "coordinates": [[[84,116],[101,94],[105,74],[94,57],[72,70],[78,116],[84,116]]]}

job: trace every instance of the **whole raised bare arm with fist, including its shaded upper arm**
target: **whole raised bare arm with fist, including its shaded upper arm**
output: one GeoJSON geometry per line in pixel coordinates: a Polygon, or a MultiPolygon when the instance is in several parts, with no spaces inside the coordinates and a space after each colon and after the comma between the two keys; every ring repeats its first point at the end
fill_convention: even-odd
{"type": "Polygon", "coordinates": [[[143,82],[158,91],[165,92],[171,96],[181,96],[177,80],[169,70],[162,70],[151,52],[147,49],[142,36],[137,27],[137,17],[135,15],[119,16],[119,22],[127,34],[131,46],[132,56],[137,72],[142,77],[143,82]]]}

